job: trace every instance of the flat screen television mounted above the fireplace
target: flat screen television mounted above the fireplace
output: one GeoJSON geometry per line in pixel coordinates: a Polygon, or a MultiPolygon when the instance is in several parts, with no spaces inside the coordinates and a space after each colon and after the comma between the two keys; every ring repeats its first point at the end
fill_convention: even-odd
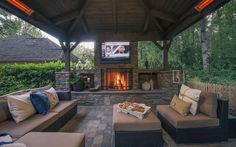
{"type": "Polygon", "coordinates": [[[104,42],[101,47],[102,63],[130,63],[130,42],[104,42]]]}

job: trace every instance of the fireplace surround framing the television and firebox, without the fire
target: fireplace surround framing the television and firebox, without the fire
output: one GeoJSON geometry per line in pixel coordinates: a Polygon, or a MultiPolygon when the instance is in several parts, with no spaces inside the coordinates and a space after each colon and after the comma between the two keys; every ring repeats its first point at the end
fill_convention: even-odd
{"type": "Polygon", "coordinates": [[[95,43],[95,77],[98,78],[99,85],[101,86],[101,70],[104,71],[109,68],[117,69],[132,69],[132,89],[138,89],[138,43],[130,42],[130,63],[129,64],[102,64],[101,63],[101,42],[95,43]]]}

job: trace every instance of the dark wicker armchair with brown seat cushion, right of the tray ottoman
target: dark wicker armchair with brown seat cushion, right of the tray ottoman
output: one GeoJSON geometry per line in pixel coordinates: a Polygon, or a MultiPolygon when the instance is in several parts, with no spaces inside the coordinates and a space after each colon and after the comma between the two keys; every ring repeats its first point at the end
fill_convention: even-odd
{"type": "Polygon", "coordinates": [[[157,106],[162,128],[181,143],[220,142],[228,139],[228,101],[217,99],[217,118],[198,113],[181,116],[168,105],[157,106]]]}

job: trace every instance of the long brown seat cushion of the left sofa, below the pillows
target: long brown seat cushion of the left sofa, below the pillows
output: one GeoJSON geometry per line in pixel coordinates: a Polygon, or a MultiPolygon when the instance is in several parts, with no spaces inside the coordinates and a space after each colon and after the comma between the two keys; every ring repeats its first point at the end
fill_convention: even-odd
{"type": "Polygon", "coordinates": [[[0,123],[1,132],[9,133],[13,138],[19,138],[30,131],[42,131],[59,118],[58,113],[50,112],[47,115],[33,115],[16,124],[14,120],[0,123]]]}

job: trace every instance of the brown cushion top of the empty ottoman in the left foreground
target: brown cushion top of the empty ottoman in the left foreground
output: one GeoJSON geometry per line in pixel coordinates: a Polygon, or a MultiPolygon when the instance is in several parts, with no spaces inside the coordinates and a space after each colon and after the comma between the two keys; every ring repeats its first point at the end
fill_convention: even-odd
{"type": "Polygon", "coordinates": [[[16,142],[27,147],[84,147],[85,136],[81,133],[30,132],[16,142]]]}

